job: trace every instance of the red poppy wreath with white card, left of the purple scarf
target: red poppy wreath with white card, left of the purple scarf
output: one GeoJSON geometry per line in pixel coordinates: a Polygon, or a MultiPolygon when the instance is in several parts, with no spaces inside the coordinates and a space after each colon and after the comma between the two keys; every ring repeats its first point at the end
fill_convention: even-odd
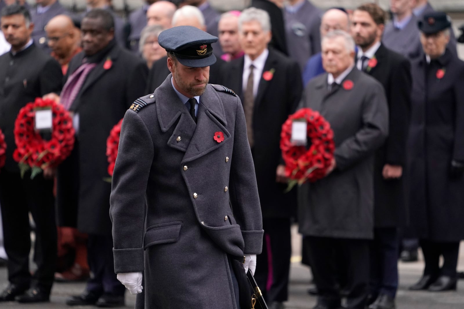
{"type": "Polygon", "coordinates": [[[13,159],[19,163],[21,177],[32,169],[31,179],[47,167],[57,167],[67,158],[74,147],[74,128],[71,115],[64,107],[53,100],[36,98],[19,110],[14,122],[14,141],[16,149],[13,159]],[[50,140],[42,139],[35,129],[35,112],[51,109],[52,134],[50,140]]]}

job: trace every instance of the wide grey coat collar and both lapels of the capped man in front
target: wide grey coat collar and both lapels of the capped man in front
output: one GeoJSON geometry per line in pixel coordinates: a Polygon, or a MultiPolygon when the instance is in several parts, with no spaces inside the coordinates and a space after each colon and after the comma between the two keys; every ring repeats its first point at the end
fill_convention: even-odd
{"type": "Polygon", "coordinates": [[[168,145],[185,151],[182,160],[185,163],[226,144],[231,134],[226,129],[226,113],[222,100],[211,85],[206,86],[205,93],[200,96],[195,123],[172,88],[171,77],[172,74],[169,74],[155,90],[156,114],[162,132],[167,132],[177,122],[168,145]],[[222,132],[224,141],[218,143],[214,140],[215,132],[222,132]],[[177,141],[178,137],[180,141],[177,141]]]}

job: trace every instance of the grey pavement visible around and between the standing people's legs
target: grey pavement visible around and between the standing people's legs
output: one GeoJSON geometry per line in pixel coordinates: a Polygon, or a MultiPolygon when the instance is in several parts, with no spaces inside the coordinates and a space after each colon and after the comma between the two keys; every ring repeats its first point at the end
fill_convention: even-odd
{"type": "MultiPolygon", "coordinates": [[[[307,294],[311,286],[309,281],[311,275],[309,269],[301,264],[301,237],[296,233],[296,226],[292,227],[292,263],[290,270],[290,299],[285,303],[286,309],[310,309],[316,304],[316,297],[307,294]]],[[[458,290],[452,292],[413,292],[407,290],[409,285],[419,280],[424,263],[422,259],[414,263],[401,263],[400,266],[400,289],[397,296],[397,309],[464,309],[464,280],[458,283],[458,290]]],[[[464,245],[461,246],[458,270],[464,270],[464,245]]],[[[0,289],[7,285],[6,268],[0,268],[0,289]]],[[[53,285],[50,303],[41,304],[19,304],[15,302],[0,303],[0,308],[25,308],[25,309],[70,309],[66,306],[66,297],[80,294],[85,283],[55,283],[53,285]]],[[[134,308],[135,296],[126,292],[126,307],[134,308]]],[[[211,304],[212,308],[214,304],[211,304]]],[[[75,306],[75,309],[95,308],[92,306],[75,306]]],[[[182,308],[187,309],[187,308],[182,308]]],[[[215,308],[220,309],[220,308],[215,308]]]]}

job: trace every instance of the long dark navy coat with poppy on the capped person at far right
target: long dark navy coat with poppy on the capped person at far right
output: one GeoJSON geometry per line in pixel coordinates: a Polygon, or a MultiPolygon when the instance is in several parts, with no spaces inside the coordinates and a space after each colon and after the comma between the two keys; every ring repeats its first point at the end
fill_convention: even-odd
{"type": "Polygon", "coordinates": [[[451,160],[464,162],[464,62],[448,49],[430,64],[423,55],[412,62],[412,77],[412,232],[420,239],[459,241],[464,239],[464,177],[451,177],[450,169],[451,160]]]}

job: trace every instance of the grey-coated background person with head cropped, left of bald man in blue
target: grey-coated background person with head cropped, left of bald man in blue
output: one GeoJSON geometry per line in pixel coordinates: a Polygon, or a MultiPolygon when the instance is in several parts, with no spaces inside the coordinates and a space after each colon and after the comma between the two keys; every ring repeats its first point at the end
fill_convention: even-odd
{"type": "Polygon", "coordinates": [[[289,0],[284,8],[289,56],[303,71],[309,57],[321,51],[322,11],[308,0],[289,0]]]}

